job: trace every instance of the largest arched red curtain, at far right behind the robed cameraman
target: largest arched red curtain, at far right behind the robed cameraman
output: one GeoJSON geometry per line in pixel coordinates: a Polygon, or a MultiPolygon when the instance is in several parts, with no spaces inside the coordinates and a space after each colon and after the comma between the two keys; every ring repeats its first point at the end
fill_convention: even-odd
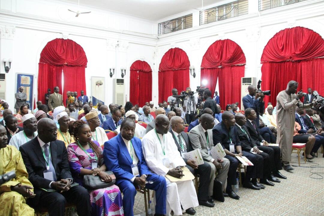
{"type": "Polygon", "coordinates": [[[261,57],[262,90],[271,90],[265,103],[276,105],[278,93],[290,80],[299,83],[298,91],[311,87],[319,94],[324,91],[320,79],[324,70],[324,40],[318,33],[303,27],[286,28],[269,40],[261,57]]]}

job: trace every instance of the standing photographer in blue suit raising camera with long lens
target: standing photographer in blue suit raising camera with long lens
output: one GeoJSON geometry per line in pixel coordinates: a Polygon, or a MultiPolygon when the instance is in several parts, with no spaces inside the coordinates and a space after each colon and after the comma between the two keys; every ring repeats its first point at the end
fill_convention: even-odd
{"type": "Polygon", "coordinates": [[[264,95],[260,92],[257,93],[257,88],[253,85],[248,86],[249,94],[242,98],[244,110],[252,108],[257,113],[257,125],[259,127],[259,115],[264,113],[264,95]]]}

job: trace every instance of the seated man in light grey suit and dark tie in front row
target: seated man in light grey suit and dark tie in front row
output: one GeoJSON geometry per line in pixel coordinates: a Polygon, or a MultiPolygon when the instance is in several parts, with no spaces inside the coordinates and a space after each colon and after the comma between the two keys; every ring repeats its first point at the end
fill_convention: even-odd
{"type": "MultiPolygon", "coordinates": [[[[200,124],[192,128],[189,132],[189,138],[193,149],[200,149],[200,153],[203,156],[203,160],[206,161],[212,168],[211,173],[213,174],[213,180],[217,171],[216,180],[222,183],[222,190],[226,182],[226,177],[229,168],[229,160],[225,157],[222,160],[212,158],[210,149],[214,146],[213,144],[213,127],[214,117],[210,114],[203,114],[200,117],[200,124]]],[[[214,181],[213,181],[214,183],[214,181]]],[[[214,184],[213,184],[214,186],[214,184]]],[[[209,188],[209,191],[213,191],[213,186],[209,188]]],[[[228,196],[224,194],[224,196],[228,196]]]]}

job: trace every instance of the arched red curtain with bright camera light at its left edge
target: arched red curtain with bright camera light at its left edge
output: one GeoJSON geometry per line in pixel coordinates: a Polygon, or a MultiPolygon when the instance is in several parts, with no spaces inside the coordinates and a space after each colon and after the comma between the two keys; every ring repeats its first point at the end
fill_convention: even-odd
{"type": "Polygon", "coordinates": [[[241,77],[244,77],[245,55],[232,40],[215,41],[203,56],[200,80],[214,93],[219,78],[219,100],[222,108],[241,101],[241,77]]]}

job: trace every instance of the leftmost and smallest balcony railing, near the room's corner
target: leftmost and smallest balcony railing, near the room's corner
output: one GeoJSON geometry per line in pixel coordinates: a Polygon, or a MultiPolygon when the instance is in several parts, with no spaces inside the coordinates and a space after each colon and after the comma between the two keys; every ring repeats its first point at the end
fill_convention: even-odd
{"type": "Polygon", "coordinates": [[[192,27],[192,14],[171,19],[158,25],[158,35],[168,34],[171,32],[179,31],[192,27]]]}

